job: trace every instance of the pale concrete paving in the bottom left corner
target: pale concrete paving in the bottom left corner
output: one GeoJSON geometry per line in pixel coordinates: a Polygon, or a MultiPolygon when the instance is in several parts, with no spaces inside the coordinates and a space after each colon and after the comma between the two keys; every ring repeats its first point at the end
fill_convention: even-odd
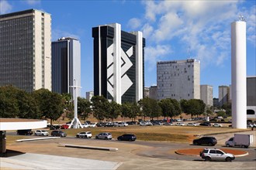
{"type": "Polygon", "coordinates": [[[0,158],[1,169],[116,169],[119,162],[26,153],[0,158]]]}

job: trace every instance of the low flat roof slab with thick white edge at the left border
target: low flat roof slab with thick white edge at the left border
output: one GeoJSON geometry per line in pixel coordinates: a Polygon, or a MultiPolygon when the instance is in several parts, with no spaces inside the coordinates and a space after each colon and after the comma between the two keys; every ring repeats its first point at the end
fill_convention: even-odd
{"type": "Polygon", "coordinates": [[[1,118],[0,131],[46,128],[47,121],[36,119],[1,118]]]}

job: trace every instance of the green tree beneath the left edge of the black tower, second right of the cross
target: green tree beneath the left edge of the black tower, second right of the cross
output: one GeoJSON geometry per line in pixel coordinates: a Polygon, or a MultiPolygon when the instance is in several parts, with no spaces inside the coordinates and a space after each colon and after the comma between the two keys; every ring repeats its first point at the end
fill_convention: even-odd
{"type": "Polygon", "coordinates": [[[109,101],[102,96],[94,96],[91,101],[93,116],[98,121],[103,121],[106,118],[106,114],[109,113],[109,101]]]}

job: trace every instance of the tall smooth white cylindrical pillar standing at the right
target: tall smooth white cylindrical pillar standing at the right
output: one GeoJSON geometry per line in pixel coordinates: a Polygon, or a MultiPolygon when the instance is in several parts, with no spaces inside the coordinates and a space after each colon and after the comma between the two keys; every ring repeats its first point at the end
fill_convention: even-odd
{"type": "Polygon", "coordinates": [[[232,127],[247,128],[246,22],[231,24],[232,127]]]}

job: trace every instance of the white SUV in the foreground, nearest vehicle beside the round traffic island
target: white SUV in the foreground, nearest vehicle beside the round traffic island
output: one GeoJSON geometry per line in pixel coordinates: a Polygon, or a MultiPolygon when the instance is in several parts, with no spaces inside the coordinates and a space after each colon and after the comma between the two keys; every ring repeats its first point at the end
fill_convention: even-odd
{"type": "Polygon", "coordinates": [[[232,162],[235,159],[234,155],[216,148],[205,148],[200,152],[200,157],[205,159],[206,162],[213,160],[232,162]]]}

